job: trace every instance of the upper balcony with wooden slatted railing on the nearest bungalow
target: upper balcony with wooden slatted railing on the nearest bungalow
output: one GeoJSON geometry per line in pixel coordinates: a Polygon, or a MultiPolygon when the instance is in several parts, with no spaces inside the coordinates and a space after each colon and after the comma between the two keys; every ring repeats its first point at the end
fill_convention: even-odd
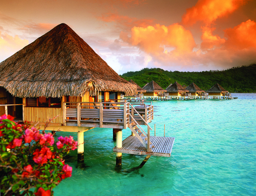
{"type": "Polygon", "coordinates": [[[154,119],[151,102],[63,102],[63,126],[126,129],[154,119]]]}

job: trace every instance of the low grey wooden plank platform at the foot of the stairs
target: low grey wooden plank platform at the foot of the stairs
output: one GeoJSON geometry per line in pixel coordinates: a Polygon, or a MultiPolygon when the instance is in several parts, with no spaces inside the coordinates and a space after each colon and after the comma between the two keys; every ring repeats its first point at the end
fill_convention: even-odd
{"type": "Polygon", "coordinates": [[[175,138],[173,137],[150,136],[150,141],[155,146],[155,148],[151,148],[152,152],[147,152],[147,149],[138,140],[138,138],[136,136],[130,135],[128,138],[122,141],[122,148],[117,148],[115,146],[113,151],[135,155],[170,157],[174,140],[175,138]]]}

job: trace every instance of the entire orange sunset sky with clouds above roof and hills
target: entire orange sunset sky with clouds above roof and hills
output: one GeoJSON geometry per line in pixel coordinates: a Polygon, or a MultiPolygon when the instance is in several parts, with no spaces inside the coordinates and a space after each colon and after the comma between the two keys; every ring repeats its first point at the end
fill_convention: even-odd
{"type": "Polygon", "coordinates": [[[60,23],[118,74],[256,63],[256,0],[0,0],[0,62],[60,23]]]}

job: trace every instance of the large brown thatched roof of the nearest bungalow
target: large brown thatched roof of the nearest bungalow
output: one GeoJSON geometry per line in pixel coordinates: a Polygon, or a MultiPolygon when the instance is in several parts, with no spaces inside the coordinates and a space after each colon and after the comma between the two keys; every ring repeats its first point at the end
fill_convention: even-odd
{"type": "Polygon", "coordinates": [[[135,94],[66,24],[59,24],[0,63],[0,86],[17,97],[91,95],[98,91],[135,94]]]}

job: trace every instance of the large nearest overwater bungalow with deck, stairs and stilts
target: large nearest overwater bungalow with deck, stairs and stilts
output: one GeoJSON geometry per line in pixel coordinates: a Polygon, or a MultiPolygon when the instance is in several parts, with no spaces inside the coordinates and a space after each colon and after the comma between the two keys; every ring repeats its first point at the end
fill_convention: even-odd
{"type": "Polygon", "coordinates": [[[48,124],[50,131],[77,132],[78,161],[83,161],[84,132],[95,127],[113,128],[117,165],[121,165],[122,153],[171,154],[174,138],[165,142],[162,137],[150,136],[152,104],[136,103],[142,115],[135,103],[115,103],[121,93],[137,93],[137,86],[122,79],[66,24],[2,61],[0,87],[1,114],[11,114],[37,127],[48,124]],[[140,125],[146,125],[147,130],[140,125]],[[122,146],[122,129],[126,128],[132,135],[129,145],[122,146]],[[158,145],[168,149],[159,151],[158,145]]]}

